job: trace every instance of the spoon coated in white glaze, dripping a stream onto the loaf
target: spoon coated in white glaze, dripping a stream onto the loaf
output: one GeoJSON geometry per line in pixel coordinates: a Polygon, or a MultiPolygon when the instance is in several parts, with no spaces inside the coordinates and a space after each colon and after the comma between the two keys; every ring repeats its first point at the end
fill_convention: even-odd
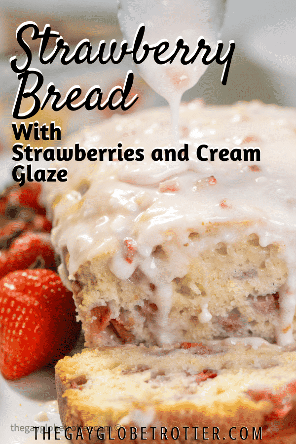
{"type": "MultiPolygon", "coordinates": [[[[120,0],[118,20],[121,31],[127,41],[132,44],[137,29],[141,23],[146,26],[144,39],[148,44],[154,44],[166,39],[170,47],[162,58],[173,51],[176,40],[183,37],[189,46],[189,55],[194,52],[198,40],[203,37],[212,49],[216,50],[219,36],[224,3],[222,0],[174,0],[167,1],[142,0],[135,3],[133,0],[120,0]]],[[[141,51],[139,51],[141,52],[141,51]]],[[[176,148],[179,144],[179,108],[183,93],[194,86],[204,74],[207,65],[201,61],[204,51],[194,63],[183,65],[180,54],[174,61],[157,64],[150,52],[148,58],[137,65],[140,75],[159,95],[164,97],[170,106],[172,140],[176,148]]],[[[189,58],[189,56],[188,56],[189,58]]],[[[156,122],[157,123],[157,122],[156,122]]]]}

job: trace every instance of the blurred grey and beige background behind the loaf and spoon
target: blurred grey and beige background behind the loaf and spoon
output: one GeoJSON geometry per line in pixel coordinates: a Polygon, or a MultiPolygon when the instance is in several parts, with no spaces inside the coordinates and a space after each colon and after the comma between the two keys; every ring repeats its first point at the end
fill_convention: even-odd
{"type": "MultiPolygon", "coordinates": [[[[11,109],[18,79],[9,66],[9,58],[12,55],[22,58],[22,49],[15,37],[15,31],[22,22],[35,21],[39,30],[50,23],[52,30],[59,31],[69,45],[89,38],[94,49],[101,39],[108,41],[115,38],[121,41],[122,36],[116,17],[116,0],[1,0],[0,5],[0,143],[3,150],[7,147],[11,149],[15,142],[11,129],[11,109]]],[[[295,37],[295,0],[228,0],[221,39],[225,47],[228,47],[228,40],[233,39],[236,48],[227,85],[223,86],[220,81],[223,66],[212,63],[198,84],[185,93],[183,100],[201,97],[207,104],[229,104],[238,100],[259,99],[265,103],[296,106],[295,37]]],[[[36,40],[37,45],[38,42],[36,40]]],[[[107,95],[112,86],[123,85],[126,72],[132,68],[125,59],[120,65],[83,63],[74,66],[72,63],[63,66],[57,60],[51,65],[38,66],[37,54],[32,66],[39,68],[44,75],[44,91],[47,83],[52,81],[62,97],[63,92],[65,94],[75,84],[81,86],[82,92],[99,84],[107,95]]],[[[133,72],[137,74],[135,67],[133,72]]],[[[131,94],[135,91],[141,100],[131,111],[166,103],[139,76],[135,77],[131,94]]],[[[34,119],[40,123],[54,119],[56,124],[62,126],[65,136],[81,125],[110,117],[111,112],[84,109],[53,112],[47,107],[34,119]]]]}

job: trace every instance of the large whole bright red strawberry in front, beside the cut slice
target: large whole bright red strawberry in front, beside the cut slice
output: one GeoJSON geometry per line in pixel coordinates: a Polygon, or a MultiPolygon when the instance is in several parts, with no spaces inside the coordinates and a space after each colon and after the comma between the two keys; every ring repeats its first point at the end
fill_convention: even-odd
{"type": "Polygon", "coordinates": [[[78,337],[72,293],[53,271],[9,273],[0,280],[0,306],[0,370],[7,379],[56,363],[78,337]]]}

